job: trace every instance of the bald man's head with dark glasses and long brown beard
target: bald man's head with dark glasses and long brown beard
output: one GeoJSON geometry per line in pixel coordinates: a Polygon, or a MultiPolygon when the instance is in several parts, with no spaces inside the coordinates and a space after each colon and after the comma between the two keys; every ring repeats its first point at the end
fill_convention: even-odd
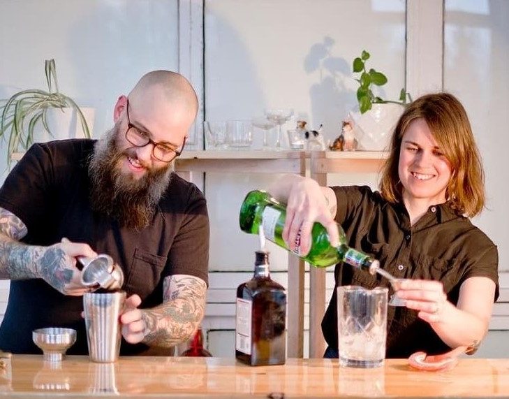
{"type": "Polygon", "coordinates": [[[155,145],[168,147],[176,155],[196,113],[196,92],[175,72],[149,72],[128,97],[120,96],[113,113],[115,127],[96,144],[90,161],[94,210],[124,226],[148,226],[172,176],[171,163],[154,157],[155,145]],[[127,137],[130,129],[152,141],[134,145],[127,137]]]}

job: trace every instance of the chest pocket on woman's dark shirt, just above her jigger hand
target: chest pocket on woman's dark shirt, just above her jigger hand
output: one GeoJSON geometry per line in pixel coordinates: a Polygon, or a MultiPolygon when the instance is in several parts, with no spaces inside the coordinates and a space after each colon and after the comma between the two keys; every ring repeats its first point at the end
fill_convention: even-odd
{"type": "Polygon", "coordinates": [[[442,282],[445,292],[449,292],[456,283],[454,262],[444,261],[425,254],[412,255],[412,273],[406,278],[437,280],[442,282]]]}

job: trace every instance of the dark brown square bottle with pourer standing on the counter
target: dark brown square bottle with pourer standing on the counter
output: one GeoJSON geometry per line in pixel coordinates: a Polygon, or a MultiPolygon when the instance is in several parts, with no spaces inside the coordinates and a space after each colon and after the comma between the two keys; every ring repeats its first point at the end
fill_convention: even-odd
{"type": "Polygon", "coordinates": [[[256,251],[254,275],[237,288],[235,357],[248,365],[286,361],[286,293],[270,278],[269,253],[256,251]]]}

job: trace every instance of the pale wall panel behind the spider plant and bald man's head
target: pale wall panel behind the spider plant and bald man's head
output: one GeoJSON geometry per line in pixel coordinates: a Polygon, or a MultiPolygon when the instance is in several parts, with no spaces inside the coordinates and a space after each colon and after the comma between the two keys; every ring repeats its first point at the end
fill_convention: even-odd
{"type": "MultiPolygon", "coordinates": [[[[54,58],[60,91],[96,109],[93,136],[101,136],[112,127],[117,97],[143,73],[178,69],[177,6],[177,0],[0,1],[0,99],[47,89],[44,61],[54,58]]],[[[0,173],[5,167],[1,143],[0,173]]]]}

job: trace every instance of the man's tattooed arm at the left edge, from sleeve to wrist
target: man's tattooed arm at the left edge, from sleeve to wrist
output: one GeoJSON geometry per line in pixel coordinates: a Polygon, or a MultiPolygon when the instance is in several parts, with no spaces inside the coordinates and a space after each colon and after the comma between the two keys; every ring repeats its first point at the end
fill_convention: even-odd
{"type": "Polygon", "coordinates": [[[59,291],[71,281],[66,255],[56,246],[40,247],[19,242],[27,226],[12,212],[0,208],[0,279],[43,278],[59,291]]]}

